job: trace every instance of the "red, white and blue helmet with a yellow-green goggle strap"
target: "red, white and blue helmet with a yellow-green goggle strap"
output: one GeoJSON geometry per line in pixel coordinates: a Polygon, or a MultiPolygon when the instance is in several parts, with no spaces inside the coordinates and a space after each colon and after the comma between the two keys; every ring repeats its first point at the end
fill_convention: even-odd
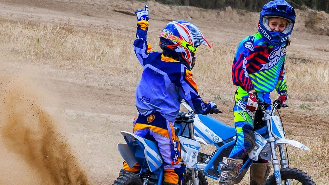
{"type": "Polygon", "coordinates": [[[169,22],[160,33],[160,47],[175,51],[189,70],[195,64],[194,55],[201,44],[211,48],[200,30],[187,21],[169,22]]]}

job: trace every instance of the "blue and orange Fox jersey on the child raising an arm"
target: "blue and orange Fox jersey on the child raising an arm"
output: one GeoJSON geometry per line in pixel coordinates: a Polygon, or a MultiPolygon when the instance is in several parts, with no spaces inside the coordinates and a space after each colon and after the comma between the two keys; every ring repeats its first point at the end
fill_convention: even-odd
{"type": "Polygon", "coordinates": [[[136,88],[136,107],[140,114],[152,111],[173,122],[178,115],[182,99],[191,108],[202,114],[210,111],[210,105],[203,102],[192,73],[180,61],[165,57],[155,51],[146,40],[148,21],[137,24],[137,39],[134,41],[136,56],[143,66],[143,72],[136,88]]]}

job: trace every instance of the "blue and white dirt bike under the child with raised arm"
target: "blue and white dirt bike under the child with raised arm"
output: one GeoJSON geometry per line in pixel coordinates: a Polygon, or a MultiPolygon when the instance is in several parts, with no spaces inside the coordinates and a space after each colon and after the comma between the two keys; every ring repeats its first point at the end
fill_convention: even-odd
{"type": "MultiPolygon", "coordinates": [[[[219,113],[219,112],[216,112],[219,113]]],[[[208,185],[205,174],[196,168],[200,143],[204,141],[194,136],[193,115],[179,112],[175,125],[190,125],[189,134],[176,128],[176,135],[181,144],[181,156],[186,163],[187,172],[183,185],[208,185]],[[184,135],[182,135],[184,133],[184,135]]],[[[163,159],[156,142],[139,137],[130,132],[121,131],[126,143],[119,143],[118,150],[129,167],[139,163],[139,173],[131,173],[121,170],[119,177],[113,185],[161,185],[163,182],[163,159]]]]}

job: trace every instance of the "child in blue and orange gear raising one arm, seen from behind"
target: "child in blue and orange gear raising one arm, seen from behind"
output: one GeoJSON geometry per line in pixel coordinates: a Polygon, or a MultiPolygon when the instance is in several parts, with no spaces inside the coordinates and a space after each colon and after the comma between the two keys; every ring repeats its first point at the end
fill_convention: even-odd
{"type": "MultiPolygon", "coordinates": [[[[138,117],[133,124],[134,134],[157,141],[164,160],[164,184],[181,184],[186,165],[180,154],[180,143],[173,122],[179,113],[182,99],[197,114],[218,113],[215,103],[204,102],[199,94],[191,69],[197,47],[211,47],[200,30],[187,21],[169,22],[160,34],[162,52],[156,52],[147,43],[148,7],[137,14],[136,56],[143,66],[136,89],[138,117]]],[[[139,173],[139,165],[123,169],[139,173]]]]}

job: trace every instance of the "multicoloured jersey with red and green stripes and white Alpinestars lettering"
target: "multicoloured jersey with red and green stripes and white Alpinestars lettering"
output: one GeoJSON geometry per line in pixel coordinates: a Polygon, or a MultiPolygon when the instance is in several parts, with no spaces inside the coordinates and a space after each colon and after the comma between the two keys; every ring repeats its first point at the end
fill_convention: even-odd
{"type": "Polygon", "coordinates": [[[232,81],[244,91],[255,89],[258,94],[267,94],[274,89],[280,94],[287,91],[284,78],[286,43],[273,47],[258,32],[244,38],[237,49],[232,81]]]}

